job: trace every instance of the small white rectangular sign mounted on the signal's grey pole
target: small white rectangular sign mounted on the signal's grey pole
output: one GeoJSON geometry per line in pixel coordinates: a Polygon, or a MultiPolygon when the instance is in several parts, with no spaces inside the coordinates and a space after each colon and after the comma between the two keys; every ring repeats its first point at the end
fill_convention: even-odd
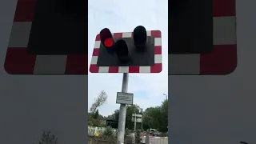
{"type": "Polygon", "coordinates": [[[134,94],[118,92],[116,103],[133,105],[134,104],[134,94]]]}

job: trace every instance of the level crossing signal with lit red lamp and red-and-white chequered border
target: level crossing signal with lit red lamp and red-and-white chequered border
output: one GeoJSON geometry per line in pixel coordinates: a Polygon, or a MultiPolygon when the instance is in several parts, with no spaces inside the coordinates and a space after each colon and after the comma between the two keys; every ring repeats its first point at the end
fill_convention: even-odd
{"type": "Polygon", "coordinates": [[[133,32],[111,33],[110,29],[104,28],[96,37],[90,72],[159,73],[161,71],[160,30],[147,31],[144,26],[137,26],[133,32]],[[126,70],[122,70],[125,68],[126,70]],[[147,70],[143,71],[143,68],[147,70]]]}

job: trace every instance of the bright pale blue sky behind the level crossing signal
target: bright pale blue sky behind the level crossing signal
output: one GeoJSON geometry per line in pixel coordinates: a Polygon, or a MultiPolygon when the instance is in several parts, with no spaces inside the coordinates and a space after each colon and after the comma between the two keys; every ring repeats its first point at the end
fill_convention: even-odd
{"type": "MultiPolygon", "coordinates": [[[[150,106],[160,106],[168,94],[168,55],[167,31],[168,13],[167,0],[90,0],[89,3],[89,33],[88,33],[88,66],[94,41],[103,28],[109,28],[112,33],[131,32],[136,26],[145,26],[146,30],[161,30],[162,32],[162,72],[159,74],[129,74],[128,93],[134,93],[134,104],[144,110],[150,106]]],[[[88,73],[88,108],[97,98],[101,90],[108,94],[107,102],[98,110],[107,116],[119,108],[116,104],[116,93],[122,90],[122,74],[92,74],[88,73]]]]}

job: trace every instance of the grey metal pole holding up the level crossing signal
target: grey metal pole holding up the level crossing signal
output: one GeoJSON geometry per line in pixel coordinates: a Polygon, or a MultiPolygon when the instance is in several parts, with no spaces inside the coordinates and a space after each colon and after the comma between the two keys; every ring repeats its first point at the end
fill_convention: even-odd
{"type": "MultiPolygon", "coordinates": [[[[127,93],[128,91],[128,78],[129,75],[124,73],[122,76],[122,93],[127,93]]],[[[126,104],[120,104],[119,119],[118,119],[118,140],[117,144],[124,143],[126,127],[126,104]]]]}

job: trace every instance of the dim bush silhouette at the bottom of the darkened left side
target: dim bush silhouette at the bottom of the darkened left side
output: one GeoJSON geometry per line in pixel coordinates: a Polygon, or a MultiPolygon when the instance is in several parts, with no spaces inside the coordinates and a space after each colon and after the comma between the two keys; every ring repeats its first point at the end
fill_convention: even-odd
{"type": "Polygon", "coordinates": [[[57,144],[58,138],[56,138],[56,134],[51,134],[50,130],[45,131],[42,130],[42,138],[38,144],[57,144]]]}

